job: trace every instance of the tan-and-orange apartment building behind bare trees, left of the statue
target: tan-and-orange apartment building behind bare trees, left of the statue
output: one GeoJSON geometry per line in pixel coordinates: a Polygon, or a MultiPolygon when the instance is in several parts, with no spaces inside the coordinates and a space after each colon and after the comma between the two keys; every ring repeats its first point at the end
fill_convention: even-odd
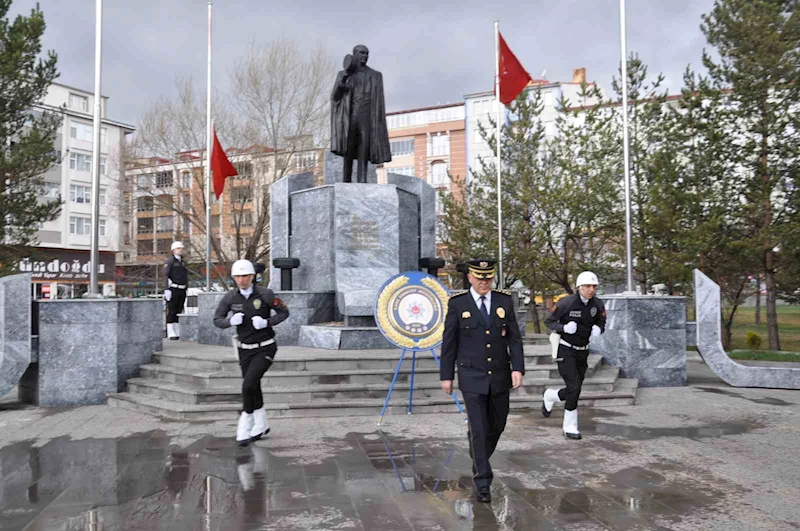
{"type": "MultiPolygon", "coordinates": [[[[212,262],[240,258],[251,243],[266,249],[269,225],[268,187],[291,173],[313,171],[322,179],[322,150],[307,148],[293,154],[264,146],[229,149],[228,157],[238,175],[229,178],[219,199],[212,193],[212,262]],[[288,160],[287,160],[288,157],[288,160]],[[256,239],[253,242],[253,239],[256,239]],[[219,251],[219,252],[218,252],[219,251]]],[[[190,285],[204,286],[206,274],[205,150],[184,151],[174,160],[149,158],[131,161],[125,172],[123,210],[124,247],[119,286],[126,294],[161,291],[160,275],[170,246],[181,240],[193,273],[190,285]]],[[[267,257],[268,258],[268,257],[267,257]]],[[[264,260],[266,262],[266,259],[264,260]]],[[[227,265],[212,271],[227,278],[227,265]]]]}

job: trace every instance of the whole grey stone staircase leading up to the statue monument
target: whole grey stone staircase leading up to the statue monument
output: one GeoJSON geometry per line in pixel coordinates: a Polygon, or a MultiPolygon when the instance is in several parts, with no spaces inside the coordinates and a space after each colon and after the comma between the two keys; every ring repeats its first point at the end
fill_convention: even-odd
{"type": "MultiPolygon", "coordinates": [[[[546,387],[561,387],[548,345],[525,344],[525,383],[512,391],[512,409],[538,408],[546,387]]],[[[264,403],[271,418],[380,415],[400,353],[397,350],[329,351],[280,347],[264,375],[264,403]]],[[[241,373],[232,348],[165,341],[164,350],[143,365],[127,392],[108,395],[108,404],[184,421],[233,420],[238,415],[241,373]]],[[[387,414],[408,407],[411,354],[406,356],[387,414]]],[[[581,395],[583,406],[632,405],[637,380],[619,378],[619,369],[589,356],[581,395]]],[[[430,353],[417,356],[414,413],[455,413],[439,388],[439,370],[430,353]]]]}

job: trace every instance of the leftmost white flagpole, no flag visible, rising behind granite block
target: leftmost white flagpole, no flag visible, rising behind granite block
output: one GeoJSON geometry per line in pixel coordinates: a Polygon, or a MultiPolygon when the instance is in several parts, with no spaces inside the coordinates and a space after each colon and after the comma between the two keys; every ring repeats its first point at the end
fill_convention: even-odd
{"type": "Polygon", "coordinates": [[[100,269],[100,135],[102,130],[103,96],[103,0],[95,0],[94,33],[94,138],[92,139],[92,229],[89,264],[89,295],[98,296],[100,269]]]}

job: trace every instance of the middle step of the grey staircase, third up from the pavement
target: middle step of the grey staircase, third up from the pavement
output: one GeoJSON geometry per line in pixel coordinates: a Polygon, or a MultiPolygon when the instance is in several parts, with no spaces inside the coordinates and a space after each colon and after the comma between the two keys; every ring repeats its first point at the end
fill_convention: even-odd
{"type": "MultiPolygon", "coordinates": [[[[593,378],[599,376],[601,357],[595,356],[590,360],[589,368],[586,373],[585,385],[591,385],[593,378]]],[[[398,374],[397,381],[408,382],[411,378],[410,362],[404,364],[398,374]]],[[[526,377],[528,381],[561,381],[558,370],[555,366],[541,365],[544,370],[538,370],[538,365],[528,366],[526,377]],[[534,368],[536,370],[534,370],[534,368]]],[[[601,370],[615,371],[618,369],[606,367],[601,370]]],[[[170,365],[148,364],[140,367],[142,378],[152,378],[165,380],[173,383],[188,384],[197,387],[219,388],[219,387],[238,387],[242,384],[241,373],[233,371],[207,372],[173,367],[170,365]]],[[[605,374],[608,374],[606,372],[605,374]]],[[[262,378],[263,387],[291,387],[305,385],[330,385],[330,384],[371,384],[391,382],[394,377],[394,368],[378,369],[346,369],[329,371],[278,371],[270,369],[262,378]]],[[[415,370],[414,381],[419,383],[439,382],[439,369],[435,366],[417,368],[415,370]]]]}

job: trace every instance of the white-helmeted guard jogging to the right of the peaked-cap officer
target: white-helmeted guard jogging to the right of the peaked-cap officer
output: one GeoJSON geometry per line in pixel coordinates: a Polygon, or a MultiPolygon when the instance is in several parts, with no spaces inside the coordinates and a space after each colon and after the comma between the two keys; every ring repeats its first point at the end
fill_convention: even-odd
{"type": "Polygon", "coordinates": [[[606,309],[595,297],[597,275],[584,271],[576,282],[578,293],[558,301],[545,324],[550,330],[553,352],[558,362],[558,373],[566,387],[544,392],[542,415],[549,417],[556,403],[564,402],[564,435],[580,439],[578,431],[578,398],[581,396],[583,377],[589,358],[589,339],[599,337],[606,330],[606,309]]]}

